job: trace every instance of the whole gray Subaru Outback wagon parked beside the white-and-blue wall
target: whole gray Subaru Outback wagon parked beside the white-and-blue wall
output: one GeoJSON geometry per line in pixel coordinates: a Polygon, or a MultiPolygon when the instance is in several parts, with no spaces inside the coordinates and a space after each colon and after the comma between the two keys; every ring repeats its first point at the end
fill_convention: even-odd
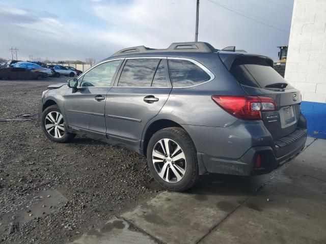
{"type": "Polygon", "coordinates": [[[301,94],[272,59],[204,42],[126,48],[48,88],[39,114],[51,141],[79,134],[137,151],[173,191],[206,173],[268,173],[307,138],[301,94]]]}

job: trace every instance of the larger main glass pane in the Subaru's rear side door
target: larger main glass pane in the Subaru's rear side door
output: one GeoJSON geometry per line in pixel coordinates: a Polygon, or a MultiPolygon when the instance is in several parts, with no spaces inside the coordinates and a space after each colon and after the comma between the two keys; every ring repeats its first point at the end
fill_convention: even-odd
{"type": "Polygon", "coordinates": [[[128,59],[121,72],[118,86],[151,86],[159,60],[158,58],[128,59]]]}

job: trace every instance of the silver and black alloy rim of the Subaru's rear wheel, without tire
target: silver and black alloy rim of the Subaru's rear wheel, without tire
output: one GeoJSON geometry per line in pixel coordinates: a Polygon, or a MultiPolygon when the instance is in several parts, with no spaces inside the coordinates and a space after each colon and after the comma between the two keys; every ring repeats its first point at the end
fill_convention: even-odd
{"type": "Polygon", "coordinates": [[[185,155],[178,143],[171,139],[164,138],[156,142],[152,161],[157,174],[167,182],[178,182],[185,174],[185,155]]]}

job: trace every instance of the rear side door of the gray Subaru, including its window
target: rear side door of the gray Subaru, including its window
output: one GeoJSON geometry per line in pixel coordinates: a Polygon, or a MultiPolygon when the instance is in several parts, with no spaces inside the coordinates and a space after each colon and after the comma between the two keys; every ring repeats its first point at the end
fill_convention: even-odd
{"type": "Polygon", "coordinates": [[[107,93],[106,133],[114,144],[139,148],[146,123],[158,114],[171,92],[167,58],[126,58],[122,67],[107,93]]]}

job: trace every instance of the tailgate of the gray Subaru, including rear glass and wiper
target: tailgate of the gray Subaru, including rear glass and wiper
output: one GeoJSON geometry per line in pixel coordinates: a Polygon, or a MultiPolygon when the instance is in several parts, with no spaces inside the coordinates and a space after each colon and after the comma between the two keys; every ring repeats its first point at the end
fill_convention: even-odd
{"type": "Polygon", "coordinates": [[[230,72],[249,96],[273,98],[276,111],[262,112],[262,120],[274,140],[291,134],[300,116],[300,91],[288,84],[273,69],[273,60],[265,56],[241,55],[230,72]]]}

